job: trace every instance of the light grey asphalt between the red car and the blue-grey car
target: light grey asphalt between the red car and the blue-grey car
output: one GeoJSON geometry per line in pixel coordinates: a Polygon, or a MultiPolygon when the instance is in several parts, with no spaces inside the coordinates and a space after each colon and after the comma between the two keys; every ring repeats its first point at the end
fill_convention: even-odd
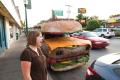
{"type": "Polygon", "coordinates": [[[88,64],[91,64],[95,59],[110,53],[120,52],[120,38],[109,39],[110,45],[105,49],[95,49],[90,51],[90,60],[88,64]]]}

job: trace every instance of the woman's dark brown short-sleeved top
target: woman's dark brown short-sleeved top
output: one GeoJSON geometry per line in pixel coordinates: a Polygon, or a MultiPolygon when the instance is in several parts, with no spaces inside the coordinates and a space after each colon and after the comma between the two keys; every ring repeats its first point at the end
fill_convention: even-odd
{"type": "Polygon", "coordinates": [[[27,47],[21,54],[21,61],[31,62],[31,72],[30,75],[32,80],[47,80],[47,66],[46,57],[38,49],[39,56],[31,48],[27,47]]]}

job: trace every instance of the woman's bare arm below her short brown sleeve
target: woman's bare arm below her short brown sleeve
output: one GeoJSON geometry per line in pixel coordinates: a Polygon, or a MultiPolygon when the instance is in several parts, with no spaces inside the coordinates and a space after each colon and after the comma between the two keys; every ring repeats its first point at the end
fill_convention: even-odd
{"type": "Polygon", "coordinates": [[[23,79],[24,80],[32,80],[32,78],[30,76],[31,62],[21,61],[21,68],[22,68],[23,79]]]}

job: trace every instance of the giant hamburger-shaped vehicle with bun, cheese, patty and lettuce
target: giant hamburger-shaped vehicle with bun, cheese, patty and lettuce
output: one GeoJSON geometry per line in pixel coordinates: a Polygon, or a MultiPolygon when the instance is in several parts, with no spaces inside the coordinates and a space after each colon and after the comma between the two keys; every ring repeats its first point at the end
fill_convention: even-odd
{"type": "Polygon", "coordinates": [[[55,20],[41,24],[45,38],[42,50],[52,70],[66,71],[88,62],[90,41],[65,36],[66,33],[81,30],[81,24],[74,20],[55,20]]]}

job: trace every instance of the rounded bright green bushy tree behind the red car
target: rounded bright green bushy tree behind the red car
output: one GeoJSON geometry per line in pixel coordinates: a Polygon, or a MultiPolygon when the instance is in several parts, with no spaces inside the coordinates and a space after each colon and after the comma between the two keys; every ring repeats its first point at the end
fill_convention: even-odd
{"type": "Polygon", "coordinates": [[[89,20],[86,29],[92,31],[96,28],[100,28],[100,22],[94,19],[89,20]]]}

